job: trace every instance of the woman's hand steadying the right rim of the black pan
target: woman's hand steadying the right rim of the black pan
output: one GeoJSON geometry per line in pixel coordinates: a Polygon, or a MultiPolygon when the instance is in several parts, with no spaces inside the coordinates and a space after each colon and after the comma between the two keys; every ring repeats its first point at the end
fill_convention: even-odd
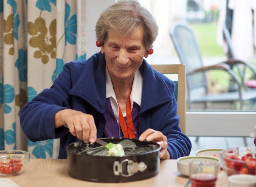
{"type": "Polygon", "coordinates": [[[170,159],[170,154],[167,151],[168,143],[167,137],[163,135],[160,131],[155,131],[153,129],[147,129],[139,137],[140,141],[154,141],[161,146],[160,159],[170,159]]]}

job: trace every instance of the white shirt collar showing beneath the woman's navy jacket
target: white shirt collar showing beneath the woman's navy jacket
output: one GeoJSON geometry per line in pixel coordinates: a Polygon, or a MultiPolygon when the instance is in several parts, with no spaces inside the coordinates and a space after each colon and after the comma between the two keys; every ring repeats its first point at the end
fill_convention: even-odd
{"type": "MultiPolygon", "coordinates": [[[[105,67],[106,72],[106,98],[110,98],[110,103],[113,109],[113,112],[115,114],[115,118],[118,122],[118,115],[119,115],[119,108],[117,104],[117,99],[115,96],[114,88],[112,81],[110,79],[110,75],[107,69],[107,65],[105,67]]],[[[141,93],[142,93],[142,83],[143,78],[141,75],[140,70],[137,70],[134,75],[133,84],[132,84],[132,90],[131,90],[131,109],[133,108],[133,103],[137,103],[141,107],[141,93]]],[[[125,112],[122,112],[123,116],[126,116],[126,110],[125,112]]]]}

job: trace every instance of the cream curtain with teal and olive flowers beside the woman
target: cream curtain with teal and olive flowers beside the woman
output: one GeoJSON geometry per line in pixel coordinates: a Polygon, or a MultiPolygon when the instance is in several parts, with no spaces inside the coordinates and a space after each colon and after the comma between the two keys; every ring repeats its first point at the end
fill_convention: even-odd
{"type": "Polygon", "coordinates": [[[19,114],[64,63],[79,59],[86,59],[85,0],[0,0],[0,150],[58,157],[59,140],[29,141],[19,114]]]}

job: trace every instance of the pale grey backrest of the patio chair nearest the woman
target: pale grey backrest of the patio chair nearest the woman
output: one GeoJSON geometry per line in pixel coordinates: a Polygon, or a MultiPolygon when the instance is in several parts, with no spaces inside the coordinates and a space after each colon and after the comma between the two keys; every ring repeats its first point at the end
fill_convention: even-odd
{"type": "MultiPolygon", "coordinates": [[[[177,24],[170,29],[170,36],[180,62],[186,65],[186,73],[203,67],[199,46],[190,28],[177,24]]],[[[190,94],[191,89],[202,87],[204,88],[204,92],[207,92],[207,79],[204,72],[198,72],[192,75],[187,74],[188,94],[190,94]]]]}

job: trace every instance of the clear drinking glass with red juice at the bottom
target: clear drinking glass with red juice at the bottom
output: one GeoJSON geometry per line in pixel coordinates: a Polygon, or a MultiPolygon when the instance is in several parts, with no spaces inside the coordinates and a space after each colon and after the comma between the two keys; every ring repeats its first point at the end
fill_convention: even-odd
{"type": "Polygon", "coordinates": [[[192,187],[214,187],[219,164],[211,161],[193,161],[190,163],[190,180],[192,187]]]}

